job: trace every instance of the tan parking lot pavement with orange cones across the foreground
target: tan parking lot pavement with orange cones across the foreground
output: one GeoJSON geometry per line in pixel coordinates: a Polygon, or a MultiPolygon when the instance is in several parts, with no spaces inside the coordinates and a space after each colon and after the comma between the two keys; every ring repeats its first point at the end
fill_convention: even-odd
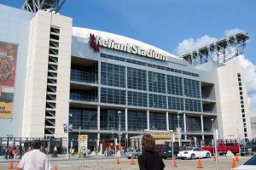
{"type": "MultiPolygon", "coordinates": [[[[241,165],[243,162],[247,161],[250,156],[246,157],[239,157],[240,161],[236,161],[237,166],[241,165]]],[[[9,162],[3,162],[1,159],[0,169],[8,169],[9,162]]],[[[55,166],[58,170],[81,170],[81,169],[119,169],[119,170],[138,170],[138,163],[135,160],[135,165],[131,165],[131,159],[127,158],[120,158],[120,164],[116,164],[116,159],[114,157],[100,157],[99,163],[97,165],[96,157],[82,159],[72,159],[72,160],[65,160],[65,159],[51,159],[50,160],[53,169],[55,166]]],[[[172,160],[166,159],[164,160],[166,164],[166,170],[173,169],[172,160]]],[[[195,160],[177,160],[177,167],[175,169],[197,169],[197,162],[198,159],[195,160]]],[[[215,169],[215,161],[213,158],[209,159],[201,159],[202,167],[204,169],[215,169]]],[[[17,162],[14,162],[14,167],[17,166],[17,162]]],[[[231,169],[232,167],[232,158],[227,158],[225,156],[218,157],[218,169],[225,170],[231,169]]]]}

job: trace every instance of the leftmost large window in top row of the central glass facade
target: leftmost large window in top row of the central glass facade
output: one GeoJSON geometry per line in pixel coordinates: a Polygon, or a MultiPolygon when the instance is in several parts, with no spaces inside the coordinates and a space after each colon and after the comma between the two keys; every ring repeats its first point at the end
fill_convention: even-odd
{"type": "Polygon", "coordinates": [[[125,88],[125,66],[102,62],[101,83],[103,85],[125,88]]]}

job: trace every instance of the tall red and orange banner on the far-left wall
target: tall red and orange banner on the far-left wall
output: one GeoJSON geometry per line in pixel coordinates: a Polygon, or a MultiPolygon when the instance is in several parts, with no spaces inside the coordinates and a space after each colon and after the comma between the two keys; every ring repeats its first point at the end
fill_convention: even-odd
{"type": "Polygon", "coordinates": [[[12,118],[18,45],[0,41],[0,119],[12,118]]]}

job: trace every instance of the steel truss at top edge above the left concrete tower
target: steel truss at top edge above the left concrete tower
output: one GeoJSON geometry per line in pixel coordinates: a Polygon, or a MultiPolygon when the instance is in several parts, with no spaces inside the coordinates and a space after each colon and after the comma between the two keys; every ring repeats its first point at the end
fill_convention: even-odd
{"type": "Polygon", "coordinates": [[[66,0],[26,0],[22,9],[32,13],[38,12],[39,9],[49,9],[49,11],[57,13],[65,2],[66,0]]]}

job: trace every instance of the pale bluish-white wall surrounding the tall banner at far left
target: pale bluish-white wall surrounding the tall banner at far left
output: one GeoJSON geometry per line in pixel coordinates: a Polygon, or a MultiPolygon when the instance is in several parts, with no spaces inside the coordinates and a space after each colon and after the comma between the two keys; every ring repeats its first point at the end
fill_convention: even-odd
{"type": "Polygon", "coordinates": [[[34,14],[0,4],[0,41],[18,44],[13,119],[0,119],[0,136],[20,137],[23,121],[26,62],[30,21],[34,14]]]}

